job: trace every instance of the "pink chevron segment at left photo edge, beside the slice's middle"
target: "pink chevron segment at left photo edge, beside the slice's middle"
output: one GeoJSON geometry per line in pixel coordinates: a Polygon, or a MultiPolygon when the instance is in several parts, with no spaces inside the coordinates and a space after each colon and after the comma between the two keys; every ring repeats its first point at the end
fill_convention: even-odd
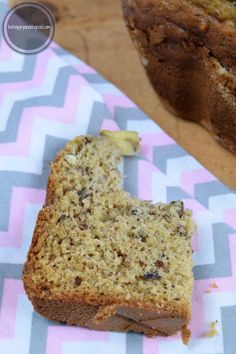
{"type": "Polygon", "coordinates": [[[44,202],[44,199],[44,190],[19,187],[12,188],[8,231],[0,232],[0,247],[21,247],[26,205],[29,203],[41,204],[44,202]]]}

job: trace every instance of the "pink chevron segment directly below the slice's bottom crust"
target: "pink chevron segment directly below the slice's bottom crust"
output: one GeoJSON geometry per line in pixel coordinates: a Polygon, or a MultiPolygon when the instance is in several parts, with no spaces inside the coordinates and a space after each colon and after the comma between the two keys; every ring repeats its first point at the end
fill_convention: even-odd
{"type": "Polygon", "coordinates": [[[109,340],[109,332],[92,331],[80,327],[53,326],[48,328],[46,354],[61,354],[64,342],[109,340]]]}

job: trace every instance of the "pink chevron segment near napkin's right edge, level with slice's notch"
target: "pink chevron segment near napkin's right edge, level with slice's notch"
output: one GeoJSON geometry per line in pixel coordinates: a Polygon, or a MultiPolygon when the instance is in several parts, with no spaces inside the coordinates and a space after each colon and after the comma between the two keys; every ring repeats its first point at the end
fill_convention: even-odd
{"type": "Polygon", "coordinates": [[[197,170],[184,171],[181,175],[181,187],[185,189],[191,196],[194,196],[194,187],[197,183],[205,183],[215,181],[216,177],[213,176],[205,168],[197,170]]]}

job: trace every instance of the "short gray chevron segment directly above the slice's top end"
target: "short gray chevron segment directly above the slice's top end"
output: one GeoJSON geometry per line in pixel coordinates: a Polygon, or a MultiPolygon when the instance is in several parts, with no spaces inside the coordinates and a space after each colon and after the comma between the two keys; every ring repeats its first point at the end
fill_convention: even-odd
{"type": "Polygon", "coordinates": [[[110,119],[111,113],[107,105],[102,102],[96,102],[93,105],[92,113],[89,120],[87,133],[91,135],[98,135],[101,130],[102,122],[104,119],[110,119]]]}

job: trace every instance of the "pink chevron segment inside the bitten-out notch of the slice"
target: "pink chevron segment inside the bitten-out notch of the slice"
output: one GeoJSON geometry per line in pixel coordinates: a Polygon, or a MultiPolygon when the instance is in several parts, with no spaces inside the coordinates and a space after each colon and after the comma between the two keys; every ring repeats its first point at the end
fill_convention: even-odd
{"type": "Polygon", "coordinates": [[[152,200],[152,173],[160,171],[150,161],[138,161],[138,197],[144,200],[152,200]]]}

